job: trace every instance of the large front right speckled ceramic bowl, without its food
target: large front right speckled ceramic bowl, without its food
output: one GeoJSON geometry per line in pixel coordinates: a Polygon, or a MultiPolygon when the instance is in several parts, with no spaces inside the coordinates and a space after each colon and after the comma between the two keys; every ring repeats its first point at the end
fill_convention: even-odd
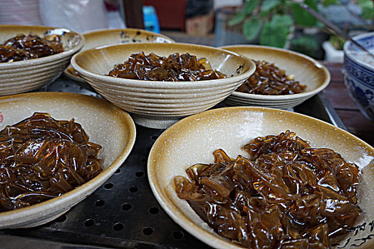
{"type": "MultiPolygon", "coordinates": [[[[224,149],[230,157],[236,158],[239,154],[248,157],[242,149],[244,144],[255,137],[279,134],[287,129],[306,139],[312,147],[333,149],[360,167],[358,200],[363,213],[356,224],[366,223],[366,228],[363,231],[354,229],[331,242],[343,246],[348,240],[348,245],[360,245],[363,241],[355,239],[370,234],[370,222],[374,226],[374,149],[342,129],[295,112],[264,107],[228,107],[186,117],[163,132],[150,151],[147,174],[151,189],[169,216],[196,238],[213,248],[239,248],[214,233],[187,201],[177,197],[173,179],[178,175],[188,178],[185,169],[193,164],[213,163],[212,152],[216,149],[224,149]]],[[[374,240],[366,240],[358,248],[374,248],[374,240]]]]}

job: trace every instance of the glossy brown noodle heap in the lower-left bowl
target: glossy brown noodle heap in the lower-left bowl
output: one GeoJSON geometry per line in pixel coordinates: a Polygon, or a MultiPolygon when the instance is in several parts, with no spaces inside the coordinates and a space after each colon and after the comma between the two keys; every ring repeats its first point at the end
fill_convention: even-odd
{"type": "Polygon", "coordinates": [[[80,124],[34,113],[0,132],[0,212],[61,196],[102,171],[80,124]]]}

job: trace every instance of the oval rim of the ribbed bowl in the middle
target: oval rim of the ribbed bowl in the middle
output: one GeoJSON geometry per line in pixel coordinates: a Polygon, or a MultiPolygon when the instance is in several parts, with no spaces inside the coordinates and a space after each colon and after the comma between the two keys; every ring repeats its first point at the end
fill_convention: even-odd
{"type": "MultiPolygon", "coordinates": [[[[134,52],[137,53],[137,52],[134,52]]],[[[155,52],[157,53],[157,52],[155,52]]],[[[186,51],[186,53],[188,53],[186,51]]],[[[120,45],[113,45],[113,46],[105,46],[101,48],[91,48],[85,51],[81,51],[79,53],[76,53],[76,55],[73,55],[73,58],[71,58],[71,65],[73,68],[78,71],[81,75],[87,77],[87,78],[93,78],[95,80],[101,80],[105,82],[111,82],[115,84],[121,84],[121,85],[126,85],[126,86],[136,86],[139,87],[142,84],[147,83],[147,87],[158,87],[158,88],[165,88],[165,89],[170,89],[170,88],[183,88],[183,87],[197,87],[199,85],[224,85],[225,83],[230,83],[233,81],[241,81],[245,80],[246,78],[249,78],[249,76],[254,73],[254,70],[256,69],[256,65],[252,60],[249,58],[246,58],[244,56],[238,55],[237,53],[233,53],[231,51],[224,51],[219,48],[214,48],[210,46],[203,46],[203,45],[197,45],[197,44],[192,44],[192,43],[125,43],[125,44],[120,44],[120,45]],[[227,53],[229,55],[233,55],[235,57],[241,58],[241,60],[244,61],[244,63],[249,63],[249,70],[246,70],[246,72],[241,73],[240,75],[234,75],[232,77],[228,78],[223,78],[223,79],[218,79],[218,80],[199,80],[199,81],[180,81],[180,82],[173,82],[173,81],[152,81],[152,80],[133,80],[133,79],[124,79],[124,78],[115,78],[111,77],[108,75],[100,75],[98,73],[94,73],[92,71],[86,70],[85,68],[80,67],[78,63],[76,62],[77,58],[80,56],[83,56],[85,53],[90,53],[90,51],[101,51],[101,50],[106,50],[106,49],[113,49],[115,47],[130,47],[130,46],[145,46],[147,48],[149,47],[155,47],[155,46],[175,46],[175,47],[194,47],[198,49],[209,49],[210,51],[221,51],[223,53],[227,53]]],[[[239,65],[238,65],[239,66],[239,65]]]]}

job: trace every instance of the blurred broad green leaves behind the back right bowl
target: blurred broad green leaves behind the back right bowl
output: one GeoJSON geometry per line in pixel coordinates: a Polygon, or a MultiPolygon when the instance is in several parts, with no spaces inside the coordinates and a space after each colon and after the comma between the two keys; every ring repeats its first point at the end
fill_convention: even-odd
{"type": "MultiPolygon", "coordinates": [[[[318,1],[303,1],[317,9],[318,1]]],[[[301,8],[300,2],[291,0],[246,0],[244,6],[229,21],[229,26],[242,25],[247,41],[258,39],[266,46],[284,48],[295,24],[303,27],[318,25],[316,18],[301,8]]]]}

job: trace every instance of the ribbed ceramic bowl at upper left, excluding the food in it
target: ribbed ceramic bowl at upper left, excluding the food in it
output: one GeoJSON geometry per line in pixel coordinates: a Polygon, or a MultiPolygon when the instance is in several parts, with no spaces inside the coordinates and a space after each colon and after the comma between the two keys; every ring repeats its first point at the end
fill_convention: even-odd
{"type": "Polygon", "coordinates": [[[53,82],[68,66],[71,56],[84,45],[84,38],[79,33],[66,28],[46,26],[0,25],[0,43],[19,33],[28,35],[44,33],[62,36],[64,51],[55,55],[13,63],[0,63],[0,95],[11,95],[35,90],[53,82]]]}

